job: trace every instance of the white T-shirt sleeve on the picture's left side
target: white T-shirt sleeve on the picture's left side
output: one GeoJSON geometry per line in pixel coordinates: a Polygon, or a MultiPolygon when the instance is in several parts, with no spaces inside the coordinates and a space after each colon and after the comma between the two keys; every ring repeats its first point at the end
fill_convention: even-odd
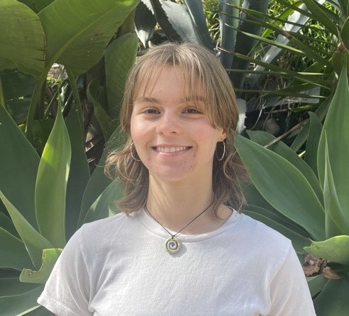
{"type": "Polygon", "coordinates": [[[93,315],[89,310],[89,272],[81,251],[82,228],[63,249],[38,298],[38,303],[55,315],[93,315]]]}

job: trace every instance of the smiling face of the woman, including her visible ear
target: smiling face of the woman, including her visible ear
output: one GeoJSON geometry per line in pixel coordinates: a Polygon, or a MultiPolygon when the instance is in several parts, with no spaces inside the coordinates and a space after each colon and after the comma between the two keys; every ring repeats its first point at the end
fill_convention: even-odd
{"type": "Polygon", "coordinates": [[[211,179],[216,143],[225,139],[207,113],[204,89],[186,95],[180,67],[164,67],[136,91],[131,137],[150,176],[167,181],[211,179]]]}

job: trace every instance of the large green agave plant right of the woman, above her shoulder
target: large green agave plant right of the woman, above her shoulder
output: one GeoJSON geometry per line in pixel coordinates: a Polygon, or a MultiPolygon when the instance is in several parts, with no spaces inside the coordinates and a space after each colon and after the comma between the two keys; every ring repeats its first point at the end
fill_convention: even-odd
{"type": "Polygon", "coordinates": [[[305,154],[297,154],[262,131],[249,131],[251,140],[236,137],[236,148],[251,179],[245,187],[246,212],[292,239],[309,276],[316,315],[341,316],[349,313],[349,86],[345,67],[323,125],[317,115],[309,115],[305,154]]]}

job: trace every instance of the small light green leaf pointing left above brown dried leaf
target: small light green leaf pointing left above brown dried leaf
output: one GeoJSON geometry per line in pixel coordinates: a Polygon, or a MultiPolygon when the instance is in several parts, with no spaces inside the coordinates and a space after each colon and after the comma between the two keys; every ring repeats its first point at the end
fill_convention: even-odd
{"type": "Polygon", "coordinates": [[[349,264],[349,236],[335,236],[323,242],[311,242],[304,247],[306,252],[318,258],[327,259],[338,264],[349,264]]]}

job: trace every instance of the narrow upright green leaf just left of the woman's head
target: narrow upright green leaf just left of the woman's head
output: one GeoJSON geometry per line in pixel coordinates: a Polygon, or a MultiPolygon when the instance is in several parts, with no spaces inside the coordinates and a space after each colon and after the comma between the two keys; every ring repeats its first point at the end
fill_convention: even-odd
{"type": "MultiPolygon", "coordinates": [[[[130,68],[135,63],[138,49],[137,35],[127,33],[114,40],[104,54],[106,64],[106,97],[108,100],[108,114],[114,120],[118,118],[123,91],[130,68]]],[[[115,128],[114,128],[115,130],[115,128]]]]}

